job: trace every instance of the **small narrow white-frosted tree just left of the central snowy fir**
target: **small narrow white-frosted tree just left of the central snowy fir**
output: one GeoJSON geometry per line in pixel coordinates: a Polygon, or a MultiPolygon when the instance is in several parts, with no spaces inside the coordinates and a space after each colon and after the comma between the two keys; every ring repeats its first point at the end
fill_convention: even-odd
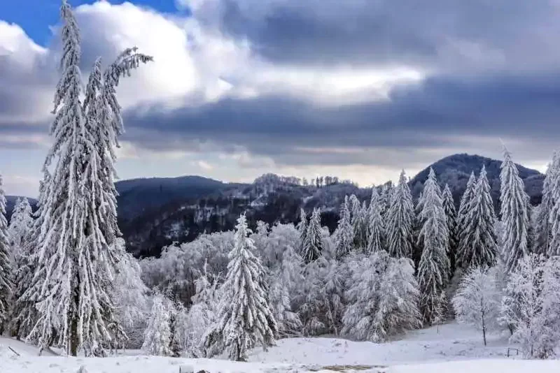
{"type": "Polygon", "coordinates": [[[165,305],[162,295],[153,298],[152,311],[148,321],[148,328],[144,332],[142,351],[147,355],[172,356],[170,348],[172,342],[169,328],[169,308],[165,305]]]}

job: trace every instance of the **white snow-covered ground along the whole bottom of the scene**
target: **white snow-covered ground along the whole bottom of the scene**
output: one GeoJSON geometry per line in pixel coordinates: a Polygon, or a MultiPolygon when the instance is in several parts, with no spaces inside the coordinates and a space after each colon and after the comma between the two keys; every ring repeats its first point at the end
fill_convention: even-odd
{"type": "MultiPolygon", "coordinates": [[[[255,349],[248,363],[227,360],[118,356],[64,358],[45,353],[13,339],[0,338],[1,373],[74,373],[85,366],[88,373],[208,372],[560,372],[560,360],[507,358],[507,335],[491,335],[483,346],[477,330],[450,323],[416,330],[386,344],[351,342],[337,338],[282,339],[265,352],[255,349]],[[20,353],[17,356],[8,349],[20,353]]],[[[131,351],[132,355],[132,351],[131,351]]]]}

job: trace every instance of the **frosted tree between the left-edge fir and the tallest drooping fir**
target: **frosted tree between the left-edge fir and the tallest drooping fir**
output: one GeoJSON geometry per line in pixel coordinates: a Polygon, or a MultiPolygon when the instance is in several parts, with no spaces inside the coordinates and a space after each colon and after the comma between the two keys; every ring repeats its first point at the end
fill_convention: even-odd
{"type": "Polygon", "coordinates": [[[20,338],[29,333],[29,322],[34,319],[35,306],[25,302],[21,297],[29,288],[33,279],[32,262],[30,261],[29,237],[33,226],[31,205],[27,198],[18,198],[15,203],[8,236],[10,237],[11,268],[13,269],[13,291],[10,310],[10,333],[20,338]],[[25,328],[22,321],[27,320],[25,328]]]}

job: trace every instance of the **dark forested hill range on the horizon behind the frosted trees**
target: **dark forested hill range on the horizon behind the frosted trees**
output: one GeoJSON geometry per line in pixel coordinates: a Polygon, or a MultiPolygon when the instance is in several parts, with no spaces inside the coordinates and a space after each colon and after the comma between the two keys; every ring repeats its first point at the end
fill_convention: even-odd
{"type": "MultiPolygon", "coordinates": [[[[478,175],[484,165],[498,211],[500,164],[501,161],[484,156],[447,156],[412,177],[409,182],[412,196],[418,198],[432,167],[440,184],[449,184],[458,205],[471,171],[478,175]]],[[[517,166],[531,203],[538,205],[544,175],[517,166]]],[[[116,188],[120,194],[119,226],[128,249],[137,256],[157,256],[162,247],[174,241],[190,241],[200,233],[230,230],[241,212],[246,212],[254,228],[258,220],[268,224],[296,223],[300,208],[309,213],[313,207],[321,207],[322,224],[332,231],[344,196],[356,194],[360,200],[369,200],[371,195],[371,188],[360,188],[350,182],[302,185],[294,178],[273,174],[262,175],[251,184],[183,176],[123,180],[116,183],[116,188]]],[[[15,198],[8,198],[8,213],[15,198]]]]}

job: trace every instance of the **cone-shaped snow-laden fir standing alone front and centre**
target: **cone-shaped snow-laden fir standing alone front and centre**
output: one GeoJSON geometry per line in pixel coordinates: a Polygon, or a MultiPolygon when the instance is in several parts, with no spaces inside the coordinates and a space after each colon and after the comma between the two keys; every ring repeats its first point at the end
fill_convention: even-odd
{"type": "Polygon", "coordinates": [[[228,275],[221,290],[218,321],[204,340],[207,351],[214,351],[216,344],[221,345],[228,357],[236,361],[246,360],[247,351],[254,346],[262,345],[264,349],[271,346],[277,332],[262,286],[264,270],[253,254],[255,247],[248,237],[250,233],[243,214],[237,219],[235,247],[230,252],[228,275]]]}

